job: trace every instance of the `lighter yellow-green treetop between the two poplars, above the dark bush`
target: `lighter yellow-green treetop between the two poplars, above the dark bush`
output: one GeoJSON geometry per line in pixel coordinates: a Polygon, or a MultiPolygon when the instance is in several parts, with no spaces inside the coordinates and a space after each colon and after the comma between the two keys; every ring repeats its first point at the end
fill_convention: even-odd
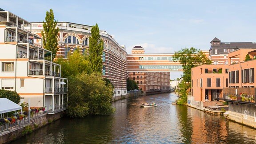
{"type": "Polygon", "coordinates": [[[81,72],[91,73],[90,64],[87,55],[82,55],[75,51],[72,55],[68,54],[68,59],[56,59],[56,63],[61,65],[61,76],[76,76],[81,72]]]}

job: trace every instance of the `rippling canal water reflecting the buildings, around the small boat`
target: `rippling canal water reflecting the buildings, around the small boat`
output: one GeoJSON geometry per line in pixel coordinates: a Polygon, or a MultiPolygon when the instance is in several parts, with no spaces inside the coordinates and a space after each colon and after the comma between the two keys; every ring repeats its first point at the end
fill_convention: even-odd
{"type": "Polygon", "coordinates": [[[254,144],[256,130],[187,106],[174,93],[113,102],[111,116],[62,118],[13,143],[19,144],[254,144]],[[157,107],[141,108],[155,102],[157,107]]]}

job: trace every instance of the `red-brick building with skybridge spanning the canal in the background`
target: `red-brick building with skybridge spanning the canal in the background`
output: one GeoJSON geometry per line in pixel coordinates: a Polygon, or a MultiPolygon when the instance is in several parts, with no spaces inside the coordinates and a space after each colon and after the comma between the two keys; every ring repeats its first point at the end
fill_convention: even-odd
{"type": "Polygon", "coordinates": [[[181,71],[179,63],[172,62],[173,54],[144,54],[144,48],[135,46],[127,54],[127,72],[143,92],[170,92],[170,70],[181,71]]]}

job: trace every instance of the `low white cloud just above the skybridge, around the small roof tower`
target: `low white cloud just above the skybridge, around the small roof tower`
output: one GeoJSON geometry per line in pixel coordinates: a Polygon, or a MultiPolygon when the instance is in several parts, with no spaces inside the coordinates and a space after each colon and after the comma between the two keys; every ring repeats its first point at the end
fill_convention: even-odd
{"type": "Polygon", "coordinates": [[[141,46],[144,48],[145,53],[174,53],[174,49],[172,47],[157,47],[155,44],[135,44],[131,47],[126,48],[127,53],[132,53],[132,48],[135,46],[141,46]]]}

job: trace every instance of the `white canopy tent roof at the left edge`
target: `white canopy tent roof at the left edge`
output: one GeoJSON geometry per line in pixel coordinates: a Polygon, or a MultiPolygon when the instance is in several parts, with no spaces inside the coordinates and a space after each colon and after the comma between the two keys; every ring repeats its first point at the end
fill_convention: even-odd
{"type": "Polygon", "coordinates": [[[7,98],[0,98],[0,114],[17,110],[21,110],[22,112],[22,107],[19,104],[7,98]]]}

